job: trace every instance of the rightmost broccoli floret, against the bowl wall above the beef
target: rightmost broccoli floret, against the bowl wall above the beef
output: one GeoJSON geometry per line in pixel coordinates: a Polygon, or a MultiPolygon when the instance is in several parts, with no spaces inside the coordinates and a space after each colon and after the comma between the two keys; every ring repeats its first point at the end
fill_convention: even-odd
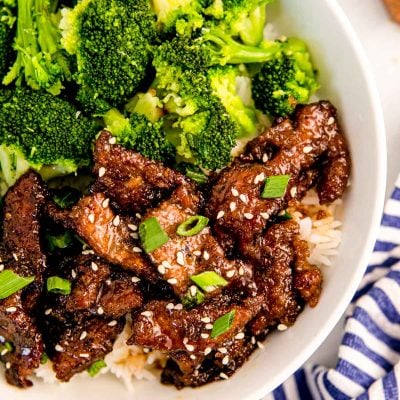
{"type": "Polygon", "coordinates": [[[319,88],[305,43],[290,38],[280,45],[279,56],[265,63],[252,81],[256,107],[272,116],[291,114],[319,88]]]}

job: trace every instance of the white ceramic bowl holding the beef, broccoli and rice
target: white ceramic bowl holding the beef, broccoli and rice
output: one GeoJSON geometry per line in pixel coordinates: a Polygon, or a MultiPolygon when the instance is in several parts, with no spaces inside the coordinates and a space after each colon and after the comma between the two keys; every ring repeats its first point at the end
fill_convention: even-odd
{"type": "MultiPolygon", "coordinates": [[[[270,8],[279,31],[304,38],[320,69],[321,98],[339,109],[351,147],[351,189],[345,199],[343,242],[335,265],[324,270],[317,308],[286,332],[269,336],[263,350],[228,381],[177,391],[157,381],[136,384],[140,400],[259,400],[282,383],[317,349],[349,304],[368,263],[382,212],[386,182],[383,118],[361,46],[335,0],[280,0],[270,8]]],[[[111,377],[77,378],[69,384],[15,389],[0,378],[2,400],[131,400],[111,377]]]]}

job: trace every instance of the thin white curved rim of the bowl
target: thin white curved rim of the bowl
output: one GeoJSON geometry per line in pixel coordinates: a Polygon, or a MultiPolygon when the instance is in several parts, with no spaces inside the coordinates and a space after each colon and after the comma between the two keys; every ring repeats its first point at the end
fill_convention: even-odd
{"type": "Polygon", "coordinates": [[[248,395],[244,400],[260,400],[267,394],[271,393],[279,385],[285,382],[287,378],[293,375],[297,369],[307,362],[312,354],[317,351],[324,340],[332,332],[340,318],[346,311],[347,306],[350,304],[358,285],[360,284],[365,270],[368,266],[369,258],[373,252],[376,242],[377,231],[380,227],[382,213],[385,204],[386,195],[386,180],[387,180],[387,144],[386,144],[386,130],[384,122],[384,114],[380,100],[380,94],[376,85],[375,78],[372,73],[370,62],[367,58],[365,50],[361,41],[353,28],[350,20],[345,14],[343,8],[336,0],[326,0],[327,7],[336,16],[337,21],[342,25],[342,28],[349,39],[349,43],[353,48],[356,58],[360,61],[363,78],[366,84],[366,89],[369,93],[373,112],[373,131],[376,132],[376,137],[380,140],[377,141],[376,147],[376,160],[377,160],[377,195],[374,199],[373,208],[370,213],[370,228],[366,234],[365,246],[359,261],[354,268],[354,274],[351,282],[347,285],[344,294],[334,309],[329,315],[325,324],[318,330],[309,345],[300,353],[292,358],[287,364],[287,367],[281,372],[274,375],[271,379],[264,384],[255,388],[251,395],[248,395]]]}

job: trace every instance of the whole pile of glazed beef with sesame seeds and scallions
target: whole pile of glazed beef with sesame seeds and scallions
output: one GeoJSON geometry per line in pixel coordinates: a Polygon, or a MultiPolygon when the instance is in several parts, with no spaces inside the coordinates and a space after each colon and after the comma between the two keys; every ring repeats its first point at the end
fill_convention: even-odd
{"type": "Polygon", "coordinates": [[[322,273],[288,210],[313,187],[321,204],[347,187],[349,152],[329,102],[276,118],[202,185],[107,130],[94,162],[90,190],[68,207],[33,171],[4,197],[1,268],[19,285],[0,300],[10,384],[32,385],[47,357],[69,381],[102,362],[126,320],[129,345],[167,356],[163,383],[228,379],[268,332],[317,305],[322,273]],[[49,246],[60,235],[68,251],[49,246]]]}

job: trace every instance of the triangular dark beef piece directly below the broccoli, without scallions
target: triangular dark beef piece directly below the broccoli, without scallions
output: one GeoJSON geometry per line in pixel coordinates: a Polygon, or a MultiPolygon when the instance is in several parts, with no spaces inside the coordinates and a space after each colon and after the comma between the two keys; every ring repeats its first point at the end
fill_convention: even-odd
{"type": "Polygon", "coordinates": [[[123,211],[142,212],[186,180],[179,172],[115,144],[107,131],[96,141],[94,161],[98,179],[93,191],[107,193],[123,211]]]}

